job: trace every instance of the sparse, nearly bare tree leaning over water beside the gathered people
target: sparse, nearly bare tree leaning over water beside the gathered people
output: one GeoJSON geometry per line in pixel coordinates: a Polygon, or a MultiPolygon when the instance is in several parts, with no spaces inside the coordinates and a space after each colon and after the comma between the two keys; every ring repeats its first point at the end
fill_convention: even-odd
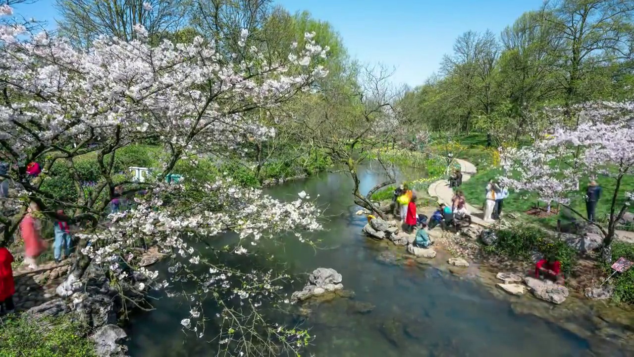
{"type": "Polygon", "coordinates": [[[389,179],[363,194],[358,169],[373,154],[372,149],[391,142],[400,123],[400,114],[392,105],[398,91],[389,83],[394,71],[383,65],[355,67],[354,71],[358,73],[356,88],[333,84],[302,98],[292,125],[298,137],[327,152],[342,167],[339,172],[353,180],[354,203],[385,218],[370,197],[394,184],[394,175],[383,165],[389,179]]]}

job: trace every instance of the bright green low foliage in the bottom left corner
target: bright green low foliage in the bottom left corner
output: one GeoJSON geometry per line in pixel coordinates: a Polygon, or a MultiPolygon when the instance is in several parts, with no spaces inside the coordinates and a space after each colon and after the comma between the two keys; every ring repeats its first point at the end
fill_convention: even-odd
{"type": "Polygon", "coordinates": [[[67,318],[33,321],[4,318],[0,333],[3,357],[93,357],[94,346],[85,329],[67,318]]]}

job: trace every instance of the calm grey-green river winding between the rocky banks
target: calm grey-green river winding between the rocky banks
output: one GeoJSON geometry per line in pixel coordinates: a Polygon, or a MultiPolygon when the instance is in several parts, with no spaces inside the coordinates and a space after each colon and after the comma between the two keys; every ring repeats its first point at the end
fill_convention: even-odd
{"type": "MultiPolygon", "coordinates": [[[[378,172],[372,168],[360,171],[362,192],[385,179],[378,172]]],[[[366,219],[354,214],[359,208],[352,204],[351,189],[352,182],[343,173],[321,173],[266,190],[280,199],[295,199],[297,192],[306,191],[326,208],[327,230],[314,236],[321,239],[323,249],[294,241],[274,248],[288,272],[304,281],[303,273],[332,267],[344,277],[344,288],[355,293],[350,300],[340,298],[311,307],[313,313],[302,327],[311,328],[316,339],[302,355],[586,355],[589,344],[585,339],[535,316],[515,314],[508,300],[498,299],[474,279],[432,266],[382,264],[377,257],[394,248],[361,234],[366,219]],[[359,303],[374,308],[361,314],[354,309],[359,303]]],[[[301,288],[301,284],[294,287],[301,288]]],[[[131,320],[131,356],[210,355],[210,345],[179,328],[189,311],[183,299],[164,297],[154,306],[154,311],[131,320]]]]}

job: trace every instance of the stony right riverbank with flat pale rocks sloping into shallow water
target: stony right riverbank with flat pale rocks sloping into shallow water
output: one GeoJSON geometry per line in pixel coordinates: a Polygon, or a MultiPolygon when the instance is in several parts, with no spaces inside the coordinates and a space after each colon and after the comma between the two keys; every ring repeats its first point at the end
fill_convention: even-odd
{"type": "MultiPolygon", "coordinates": [[[[425,212],[427,208],[421,210],[425,212]]],[[[469,256],[464,251],[456,254],[456,245],[465,248],[465,242],[473,241],[436,229],[429,231],[429,235],[434,240],[430,248],[434,251],[432,255],[415,257],[406,248],[383,239],[376,241],[384,249],[378,254],[377,260],[406,269],[412,266],[420,267],[423,271],[438,269],[461,280],[474,281],[484,286],[496,299],[508,302],[514,314],[536,316],[588,340],[590,350],[595,353],[593,356],[634,355],[634,348],[630,344],[634,338],[634,309],[631,306],[616,306],[607,300],[588,300],[577,289],[568,290],[565,301],[554,305],[529,293],[531,288],[524,285],[524,276],[530,271],[531,264],[503,257],[469,256]],[[460,257],[463,259],[456,259],[460,257]],[[519,291],[508,292],[513,288],[519,291]],[[616,351],[621,351],[621,354],[616,351]]],[[[479,249],[475,242],[469,248],[479,249]]]]}

